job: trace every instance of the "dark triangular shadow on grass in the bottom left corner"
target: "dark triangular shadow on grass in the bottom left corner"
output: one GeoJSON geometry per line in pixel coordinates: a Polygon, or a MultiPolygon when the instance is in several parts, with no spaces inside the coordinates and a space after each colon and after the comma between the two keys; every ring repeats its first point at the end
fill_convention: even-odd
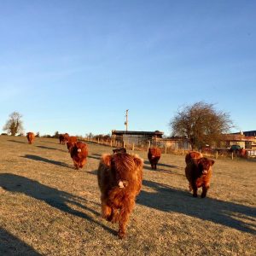
{"type": "Polygon", "coordinates": [[[31,255],[39,256],[32,247],[19,238],[11,235],[7,230],[0,229],[0,255],[31,255]]]}

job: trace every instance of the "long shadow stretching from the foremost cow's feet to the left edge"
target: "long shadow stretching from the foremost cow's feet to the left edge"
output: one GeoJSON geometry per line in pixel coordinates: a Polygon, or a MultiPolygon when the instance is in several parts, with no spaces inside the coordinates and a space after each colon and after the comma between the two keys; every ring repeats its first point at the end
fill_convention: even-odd
{"type": "Polygon", "coordinates": [[[116,235],[114,230],[96,220],[96,218],[100,216],[100,213],[86,205],[91,203],[95,205],[97,204],[95,202],[87,201],[84,199],[84,197],[72,195],[59,189],[50,188],[49,186],[39,183],[36,180],[11,173],[0,174],[0,186],[10,192],[18,192],[37,200],[44,201],[50,207],[54,207],[62,212],[67,212],[79,218],[84,218],[94,224],[102,226],[102,228],[107,230],[109,233],[116,235]],[[90,212],[94,215],[94,217],[91,217],[87,213],[80,212],[77,209],[73,209],[72,207],[79,207],[87,212],[90,212]]]}

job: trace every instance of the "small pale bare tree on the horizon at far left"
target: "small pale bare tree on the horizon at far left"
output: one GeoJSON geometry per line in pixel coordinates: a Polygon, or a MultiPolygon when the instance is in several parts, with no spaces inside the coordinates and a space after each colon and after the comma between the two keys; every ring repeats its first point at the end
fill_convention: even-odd
{"type": "Polygon", "coordinates": [[[15,136],[17,133],[23,132],[23,122],[21,120],[22,115],[18,112],[9,114],[9,119],[3,126],[3,131],[7,131],[8,134],[15,136]]]}

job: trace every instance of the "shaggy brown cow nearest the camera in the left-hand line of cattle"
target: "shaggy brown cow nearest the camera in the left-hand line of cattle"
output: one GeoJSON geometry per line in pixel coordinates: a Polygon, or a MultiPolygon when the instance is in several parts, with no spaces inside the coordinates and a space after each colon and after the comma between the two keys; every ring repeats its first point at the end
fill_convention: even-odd
{"type": "Polygon", "coordinates": [[[88,156],[87,145],[80,142],[74,143],[70,148],[70,156],[72,157],[73,164],[77,170],[79,170],[79,168],[83,168],[88,156]]]}

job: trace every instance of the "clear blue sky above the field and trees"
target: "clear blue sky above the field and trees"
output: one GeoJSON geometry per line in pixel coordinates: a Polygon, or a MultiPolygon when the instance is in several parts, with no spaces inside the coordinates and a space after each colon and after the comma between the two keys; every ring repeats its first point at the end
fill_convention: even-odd
{"type": "Polygon", "coordinates": [[[1,1],[0,129],[164,131],[204,101],[256,130],[256,2],[1,1]]]}

